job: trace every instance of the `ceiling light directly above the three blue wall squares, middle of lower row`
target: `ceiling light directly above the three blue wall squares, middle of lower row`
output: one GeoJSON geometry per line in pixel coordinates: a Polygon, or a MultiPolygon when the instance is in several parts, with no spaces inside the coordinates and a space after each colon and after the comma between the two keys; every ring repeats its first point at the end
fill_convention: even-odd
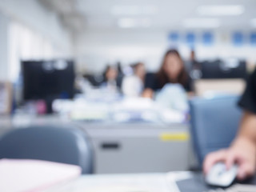
{"type": "Polygon", "coordinates": [[[218,18],[187,18],[183,26],[186,28],[218,28],[220,21],[218,18]]]}

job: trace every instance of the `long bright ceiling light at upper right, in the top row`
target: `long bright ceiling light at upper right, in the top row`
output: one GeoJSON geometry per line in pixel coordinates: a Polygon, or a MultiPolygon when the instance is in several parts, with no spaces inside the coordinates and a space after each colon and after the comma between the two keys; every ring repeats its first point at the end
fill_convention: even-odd
{"type": "Polygon", "coordinates": [[[204,16],[241,15],[244,11],[245,8],[241,5],[199,6],[197,9],[198,14],[204,16]]]}

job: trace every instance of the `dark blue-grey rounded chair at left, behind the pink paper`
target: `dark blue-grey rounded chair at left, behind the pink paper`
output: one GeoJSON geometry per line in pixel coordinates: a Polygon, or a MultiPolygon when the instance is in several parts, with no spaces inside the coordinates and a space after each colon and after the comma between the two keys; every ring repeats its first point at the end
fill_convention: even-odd
{"type": "Polygon", "coordinates": [[[74,127],[30,126],[0,138],[0,158],[40,159],[73,164],[82,174],[93,172],[93,152],[82,130],[74,127]]]}

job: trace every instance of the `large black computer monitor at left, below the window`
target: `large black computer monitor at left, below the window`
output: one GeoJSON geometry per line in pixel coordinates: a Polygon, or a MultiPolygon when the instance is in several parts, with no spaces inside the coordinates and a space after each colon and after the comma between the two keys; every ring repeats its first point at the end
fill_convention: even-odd
{"type": "Polygon", "coordinates": [[[74,97],[74,62],[22,61],[23,99],[54,100],[74,97]]]}

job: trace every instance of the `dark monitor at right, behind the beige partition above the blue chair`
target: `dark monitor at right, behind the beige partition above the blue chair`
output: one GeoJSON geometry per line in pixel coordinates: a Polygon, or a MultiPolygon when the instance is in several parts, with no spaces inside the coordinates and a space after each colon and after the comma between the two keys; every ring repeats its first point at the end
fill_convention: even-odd
{"type": "Polygon", "coordinates": [[[246,62],[216,60],[201,63],[202,78],[246,78],[246,62]]]}

